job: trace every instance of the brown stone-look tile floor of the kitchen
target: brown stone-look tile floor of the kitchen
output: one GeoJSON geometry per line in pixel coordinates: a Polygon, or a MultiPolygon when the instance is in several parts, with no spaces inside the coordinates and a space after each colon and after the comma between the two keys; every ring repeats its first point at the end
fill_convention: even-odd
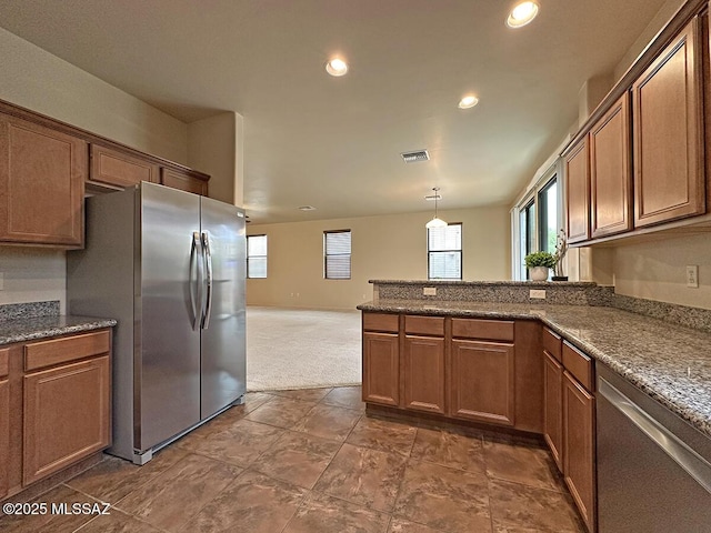
{"type": "Polygon", "coordinates": [[[365,416],[356,386],[249,393],[144,466],[108,457],[36,501],[110,514],[3,516],[0,531],[584,531],[545,450],[365,416]]]}

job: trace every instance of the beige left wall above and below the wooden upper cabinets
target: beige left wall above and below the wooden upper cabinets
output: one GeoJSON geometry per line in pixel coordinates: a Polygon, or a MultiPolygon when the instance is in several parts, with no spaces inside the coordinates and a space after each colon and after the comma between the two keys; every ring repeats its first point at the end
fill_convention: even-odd
{"type": "MultiPolygon", "coordinates": [[[[0,99],[187,163],[188,127],[0,28],[0,99]]],[[[0,245],[0,304],[60,300],[64,252],[0,245]]]]}

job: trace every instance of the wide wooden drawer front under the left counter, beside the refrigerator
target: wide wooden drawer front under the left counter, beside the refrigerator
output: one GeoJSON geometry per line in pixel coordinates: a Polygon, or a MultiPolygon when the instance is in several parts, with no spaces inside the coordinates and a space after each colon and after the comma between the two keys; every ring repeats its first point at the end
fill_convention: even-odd
{"type": "Polygon", "coordinates": [[[108,330],[33,342],[24,346],[24,371],[44,369],[107,353],[110,345],[111,333],[108,330]]]}

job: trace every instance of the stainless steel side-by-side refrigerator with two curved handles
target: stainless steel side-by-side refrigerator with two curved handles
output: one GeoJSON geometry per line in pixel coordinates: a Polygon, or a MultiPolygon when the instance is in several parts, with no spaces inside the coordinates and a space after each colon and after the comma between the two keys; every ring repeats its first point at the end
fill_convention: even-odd
{"type": "Polygon", "coordinates": [[[118,320],[108,452],[143,464],[246,392],[244,213],[147,182],[86,210],[68,308],[118,320]]]}

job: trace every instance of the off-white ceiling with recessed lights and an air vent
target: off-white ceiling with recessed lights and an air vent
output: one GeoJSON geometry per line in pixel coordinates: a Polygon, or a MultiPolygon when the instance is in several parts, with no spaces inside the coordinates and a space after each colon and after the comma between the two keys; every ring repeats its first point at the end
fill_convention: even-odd
{"type": "Polygon", "coordinates": [[[540,0],[519,30],[513,3],[3,0],[0,26],[182,121],[241,113],[248,214],[280,222],[510,204],[664,0],[540,0]]]}

